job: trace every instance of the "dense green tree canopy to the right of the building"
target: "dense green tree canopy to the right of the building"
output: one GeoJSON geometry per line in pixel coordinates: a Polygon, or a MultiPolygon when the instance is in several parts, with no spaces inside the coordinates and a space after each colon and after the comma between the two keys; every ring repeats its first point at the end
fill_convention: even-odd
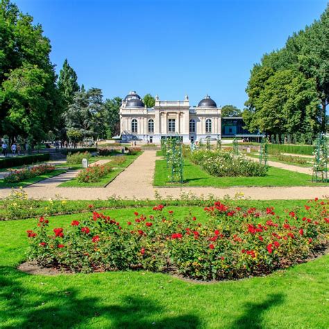
{"type": "Polygon", "coordinates": [[[254,65],[246,87],[246,127],[269,134],[326,130],[329,101],[329,16],[289,37],[254,65]]]}

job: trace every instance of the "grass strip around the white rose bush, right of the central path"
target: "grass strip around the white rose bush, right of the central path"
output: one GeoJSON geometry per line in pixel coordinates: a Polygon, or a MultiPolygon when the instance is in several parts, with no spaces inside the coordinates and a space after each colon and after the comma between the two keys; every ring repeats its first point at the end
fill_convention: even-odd
{"type": "MultiPolygon", "coordinates": [[[[179,183],[170,183],[169,170],[165,160],[155,162],[155,186],[182,186],[179,183]]],[[[312,176],[285,169],[269,167],[264,177],[213,177],[201,167],[193,165],[188,159],[184,160],[184,186],[305,186],[325,185],[325,183],[312,183],[312,176]]]]}

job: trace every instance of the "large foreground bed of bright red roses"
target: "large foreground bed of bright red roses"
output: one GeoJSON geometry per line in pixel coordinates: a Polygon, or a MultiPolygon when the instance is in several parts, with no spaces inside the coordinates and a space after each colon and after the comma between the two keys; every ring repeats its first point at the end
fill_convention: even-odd
{"type": "Polygon", "coordinates": [[[70,271],[144,269],[175,271],[202,280],[244,278],[303,262],[328,243],[328,201],[309,201],[284,218],[273,208],[229,208],[220,202],[204,210],[208,221],[176,218],[163,205],[131,221],[93,212],[90,219],[49,231],[41,217],[28,230],[29,257],[45,267],[70,271]]]}

